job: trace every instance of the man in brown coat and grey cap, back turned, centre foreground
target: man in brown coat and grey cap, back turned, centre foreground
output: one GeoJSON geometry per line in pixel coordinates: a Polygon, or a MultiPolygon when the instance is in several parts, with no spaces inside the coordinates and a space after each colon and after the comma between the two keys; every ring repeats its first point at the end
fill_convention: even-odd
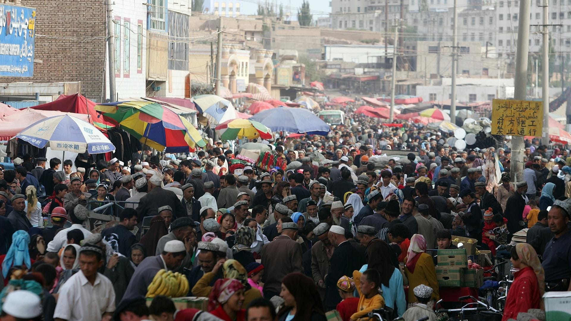
{"type": "Polygon", "coordinates": [[[297,224],[287,222],[282,224],[282,234],[262,248],[262,264],[264,273],[264,297],[271,299],[280,295],[282,279],[289,273],[303,273],[301,264],[301,245],[295,242],[297,238],[297,224]]]}

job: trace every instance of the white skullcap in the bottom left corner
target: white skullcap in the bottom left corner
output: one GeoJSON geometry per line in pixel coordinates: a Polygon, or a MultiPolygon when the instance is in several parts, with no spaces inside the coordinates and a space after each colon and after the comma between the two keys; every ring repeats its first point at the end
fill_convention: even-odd
{"type": "Polygon", "coordinates": [[[31,291],[9,292],[2,304],[2,320],[29,320],[40,315],[42,315],[42,302],[39,296],[31,291]]]}

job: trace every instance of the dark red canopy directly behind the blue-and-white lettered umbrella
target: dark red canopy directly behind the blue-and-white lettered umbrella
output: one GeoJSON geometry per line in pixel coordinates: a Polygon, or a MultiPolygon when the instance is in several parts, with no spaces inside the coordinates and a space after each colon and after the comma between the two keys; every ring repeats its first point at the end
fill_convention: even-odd
{"type": "Polygon", "coordinates": [[[96,103],[90,101],[85,96],[77,93],[73,95],[59,95],[58,99],[51,103],[30,107],[35,110],[57,110],[65,113],[86,114],[89,117],[89,123],[95,125],[99,129],[105,130],[113,127],[110,122],[103,119],[103,116],[95,110],[96,103]]]}

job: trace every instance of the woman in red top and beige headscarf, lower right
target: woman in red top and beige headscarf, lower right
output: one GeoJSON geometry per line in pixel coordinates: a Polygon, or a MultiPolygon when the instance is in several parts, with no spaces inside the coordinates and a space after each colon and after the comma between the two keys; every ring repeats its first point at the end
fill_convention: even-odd
{"type": "Polygon", "coordinates": [[[517,243],[512,247],[514,268],[520,270],[514,274],[508,298],[505,300],[502,321],[516,319],[520,312],[529,309],[542,309],[542,296],[545,289],[545,274],[534,248],[528,243],[517,243]]]}

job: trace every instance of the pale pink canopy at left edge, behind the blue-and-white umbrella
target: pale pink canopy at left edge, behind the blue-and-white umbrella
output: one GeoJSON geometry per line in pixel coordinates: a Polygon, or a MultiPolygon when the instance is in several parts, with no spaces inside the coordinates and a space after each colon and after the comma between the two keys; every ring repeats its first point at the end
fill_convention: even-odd
{"type": "Polygon", "coordinates": [[[34,110],[30,108],[21,109],[18,113],[0,119],[0,141],[7,141],[13,138],[26,127],[42,119],[66,114],[87,122],[86,114],[63,113],[63,111],[54,110],[34,110]]]}

